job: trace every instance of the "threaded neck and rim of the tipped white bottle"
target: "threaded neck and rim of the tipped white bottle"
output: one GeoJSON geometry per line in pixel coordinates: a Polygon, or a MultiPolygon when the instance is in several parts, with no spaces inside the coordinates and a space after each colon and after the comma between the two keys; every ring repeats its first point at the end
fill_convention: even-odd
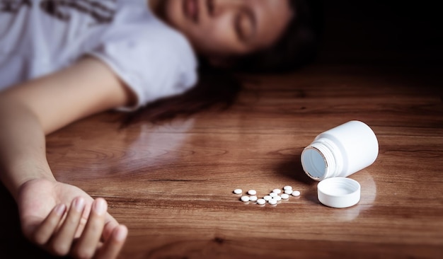
{"type": "Polygon", "coordinates": [[[314,180],[339,176],[343,171],[343,156],[338,146],[326,138],[314,140],[301,153],[304,171],[314,180]]]}

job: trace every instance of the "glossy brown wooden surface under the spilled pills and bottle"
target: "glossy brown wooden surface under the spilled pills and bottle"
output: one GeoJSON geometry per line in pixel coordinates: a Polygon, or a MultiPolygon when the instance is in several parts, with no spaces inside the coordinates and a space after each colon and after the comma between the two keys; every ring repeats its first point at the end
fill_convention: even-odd
{"type": "MultiPolygon", "coordinates": [[[[103,113],[51,134],[47,158],[58,180],[105,197],[129,227],[121,258],[440,258],[440,79],[435,68],[330,65],[244,76],[229,110],[123,129],[103,113]],[[300,154],[349,120],[372,127],[379,156],[350,175],[359,203],[334,209],[318,202],[300,154]],[[301,195],[276,206],[232,192],[284,185],[301,195]]],[[[2,192],[0,257],[45,258],[2,192]]]]}

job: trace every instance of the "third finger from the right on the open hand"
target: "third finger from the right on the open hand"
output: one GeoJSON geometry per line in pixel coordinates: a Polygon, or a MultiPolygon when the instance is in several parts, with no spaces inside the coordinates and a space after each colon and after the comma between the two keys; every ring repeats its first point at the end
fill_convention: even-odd
{"type": "Polygon", "coordinates": [[[59,231],[50,241],[49,248],[52,253],[56,255],[67,255],[69,253],[84,207],[85,200],[83,197],[77,197],[72,201],[66,219],[64,219],[59,231]]]}

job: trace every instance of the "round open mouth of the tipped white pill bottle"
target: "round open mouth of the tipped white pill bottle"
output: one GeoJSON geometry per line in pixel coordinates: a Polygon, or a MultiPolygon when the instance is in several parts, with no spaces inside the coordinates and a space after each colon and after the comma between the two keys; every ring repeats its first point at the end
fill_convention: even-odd
{"type": "Polygon", "coordinates": [[[321,180],[326,174],[326,162],[323,155],[315,148],[304,149],[301,153],[303,170],[314,180],[321,180]]]}

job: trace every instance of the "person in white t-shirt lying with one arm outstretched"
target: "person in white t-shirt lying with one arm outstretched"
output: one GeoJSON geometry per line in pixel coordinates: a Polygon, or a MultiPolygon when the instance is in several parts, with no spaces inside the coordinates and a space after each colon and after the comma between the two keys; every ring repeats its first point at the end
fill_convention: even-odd
{"type": "Polygon", "coordinates": [[[297,66],[314,40],[301,4],[0,1],[0,178],[25,236],[55,255],[117,257],[127,228],[105,200],[54,178],[45,135],[185,93],[197,84],[197,57],[255,71],[297,66]]]}

